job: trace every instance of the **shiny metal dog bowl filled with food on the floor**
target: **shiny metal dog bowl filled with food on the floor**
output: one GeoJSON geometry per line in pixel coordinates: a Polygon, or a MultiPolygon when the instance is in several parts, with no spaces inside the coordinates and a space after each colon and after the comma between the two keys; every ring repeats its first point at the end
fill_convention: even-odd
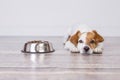
{"type": "Polygon", "coordinates": [[[22,52],[24,53],[50,53],[54,52],[52,43],[48,41],[29,41],[25,43],[22,52]]]}

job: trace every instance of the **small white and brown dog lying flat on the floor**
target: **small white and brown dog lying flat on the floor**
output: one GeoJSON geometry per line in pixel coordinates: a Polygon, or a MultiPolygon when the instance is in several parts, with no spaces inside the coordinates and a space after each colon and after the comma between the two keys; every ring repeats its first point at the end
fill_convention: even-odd
{"type": "Polygon", "coordinates": [[[65,35],[64,48],[81,54],[102,53],[103,37],[88,25],[71,27],[65,35]]]}

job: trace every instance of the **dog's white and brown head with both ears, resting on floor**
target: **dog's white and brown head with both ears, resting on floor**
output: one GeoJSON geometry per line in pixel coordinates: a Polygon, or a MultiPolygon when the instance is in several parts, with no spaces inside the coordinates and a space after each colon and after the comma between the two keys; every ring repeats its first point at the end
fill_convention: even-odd
{"type": "Polygon", "coordinates": [[[91,32],[81,33],[77,31],[71,36],[70,41],[78,48],[80,53],[92,54],[98,43],[103,42],[104,39],[95,30],[91,32]]]}

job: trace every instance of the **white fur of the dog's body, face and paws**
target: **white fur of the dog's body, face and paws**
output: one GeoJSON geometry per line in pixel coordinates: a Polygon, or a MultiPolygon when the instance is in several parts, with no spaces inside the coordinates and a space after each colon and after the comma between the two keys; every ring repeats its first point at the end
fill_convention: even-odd
{"type": "Polygon", "coordinates": [[[103,51],[103,42],[98,43],[97,47],[95,49],[92,49],[89,45],[86,45],[86,36],[87,32],[92,32],[92,29],[86,25],[86,24],[81,24],[79,26],[74,26],[69,28],[67,34],[64,37],[64,48],[70,50],[71,52],[80,52],[81,54],[87,53],[87,54],[92,54],[93,52],[95,53],[102,53],[103,51]],[[77,46],[75,46],[73,43],[71,43],[68,38],[72,35],[74,35],[77,31],[80,31],[82,35],[79,37],[79,40],[82,40],[83,43],[78,43],[77,46]],[[84,47],[87,46],[89,47],[89,51],[85,52],[84,47]]]}

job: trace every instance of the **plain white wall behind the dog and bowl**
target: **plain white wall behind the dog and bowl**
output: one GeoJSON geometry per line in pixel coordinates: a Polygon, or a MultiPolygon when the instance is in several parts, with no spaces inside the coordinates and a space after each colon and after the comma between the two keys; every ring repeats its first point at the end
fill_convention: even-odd
{"type": "Polygon", "coordinates": [[[0,0],[0,36],[63,36],[80,23],[120,36],[120,0],[0,0]]]}

